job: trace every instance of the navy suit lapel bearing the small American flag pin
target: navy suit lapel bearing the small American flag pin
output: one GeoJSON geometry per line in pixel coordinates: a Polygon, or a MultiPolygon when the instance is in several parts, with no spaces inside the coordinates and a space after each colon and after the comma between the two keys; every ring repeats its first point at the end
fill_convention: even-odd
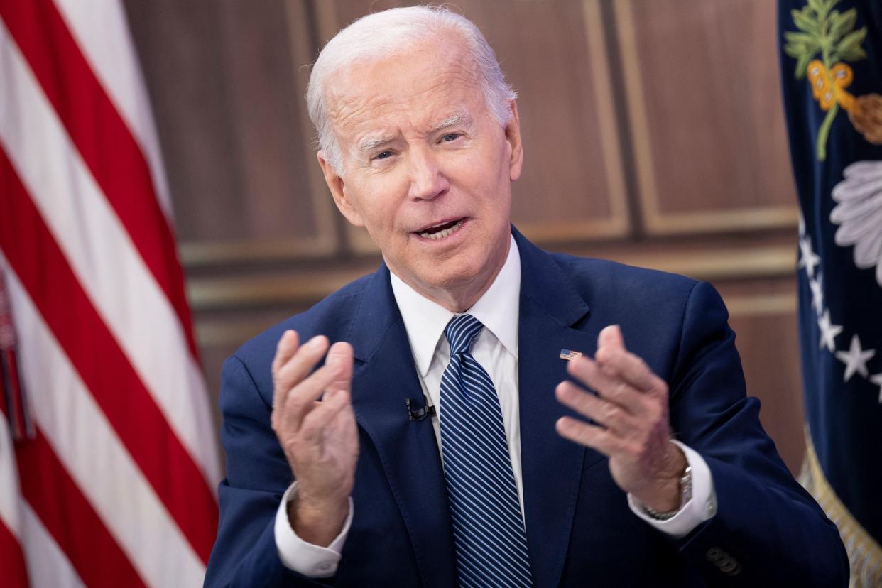
{"type": "Polygon", "coordinates": [[[597,333],[571,328],[586,302],[547,253],[514,231],[521,257],[519,309],[520,450],[527,544],[536,586],[557,586],[583,468],[602,456],[564,440],[555,422],[572,414],[554,398],[566,378],[561,349],[594,355],[597,333]]]}

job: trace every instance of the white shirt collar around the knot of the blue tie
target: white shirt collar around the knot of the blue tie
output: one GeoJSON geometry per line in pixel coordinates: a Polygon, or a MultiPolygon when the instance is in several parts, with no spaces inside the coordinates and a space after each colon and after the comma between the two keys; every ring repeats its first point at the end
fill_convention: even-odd
{"type": "MultiPolygon", "coordinates": [[[[392,272],[390,278],[392,294],[404,320],[416,368],[420,370],[420,376],[425,377],[429,373],[438,340],[454,313],[418,294],[392,272]]],[[[512,237],[508,257],[496,279],[466,312],[481,321],[484,328],[493,333],[515,359],[518,358],[519,299],[520,255],[512,237]]]]}

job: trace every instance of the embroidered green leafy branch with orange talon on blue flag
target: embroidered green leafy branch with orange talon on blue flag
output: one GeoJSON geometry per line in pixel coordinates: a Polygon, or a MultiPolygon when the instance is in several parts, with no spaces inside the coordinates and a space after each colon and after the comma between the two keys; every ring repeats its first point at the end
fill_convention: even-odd
{"type": "Polygon", "coordinates": [[[854,96],[848,86],[854,72],[847,63],[867,56],[861,48],[867,27],[855,30],[857,11],[834,11],[840,0],[808,0],[801,11],[790,11],[798,32],[784,33],[784,52],[796,59],[796,78],[809,78],[811,93],[826,112],[815,147],[818,161],[826,160],[826,142],[833,119],[842,108],[867,141],[882,145],[882,96],[854,96]],[[820,59],[815,57],[820,54],[820,59]]]}

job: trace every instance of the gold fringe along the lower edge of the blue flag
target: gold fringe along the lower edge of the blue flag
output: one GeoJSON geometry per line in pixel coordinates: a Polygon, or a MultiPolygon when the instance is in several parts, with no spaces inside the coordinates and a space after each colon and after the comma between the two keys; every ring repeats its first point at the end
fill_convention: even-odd
{"type": "Polygon", "coordinates": [[[848,512],[827,483],[808,429],[805,430],[805,460],[802,472],[799,473],[799,483],[815,497],[826,516],[839,528],[851,564],[851,581],[848,587],[882,586],[882,547],[879,547],[870,533],[864,531],[863,526],[848,512]]]}

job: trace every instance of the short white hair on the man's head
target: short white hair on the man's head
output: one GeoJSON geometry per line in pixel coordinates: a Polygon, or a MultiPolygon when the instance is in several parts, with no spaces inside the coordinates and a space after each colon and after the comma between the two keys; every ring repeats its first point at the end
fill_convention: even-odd
{"type": "Polygon", "coordinates": [[[328,41],[312,65],[306,104],[318,131],[318,148],[338,174],[343,169],[340,145],[328,120],[325,84],[333,74],[356,62],[380,59],[407,51],[440,31],[460,33],[468,55],[475,60],[484,100],[490,115],[500,125],[512,118],[509,101],[517,97],[497,62],[493,48],[471,20],[444,6],[408,6],[375,12],[342,29],[328,41]]]}

